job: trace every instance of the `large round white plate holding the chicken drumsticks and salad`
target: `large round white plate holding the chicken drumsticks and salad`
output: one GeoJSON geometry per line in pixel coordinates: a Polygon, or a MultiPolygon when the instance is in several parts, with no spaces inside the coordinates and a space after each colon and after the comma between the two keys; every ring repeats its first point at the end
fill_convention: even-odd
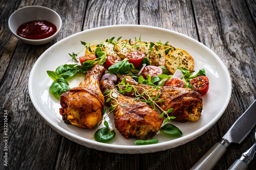
{"type": "MultiPolygon", "coordinates": [[[[84,51],[79,56],[83,56],[83,54],[84,51]]],[[[69,79],[70,88],[77,87],[84,80],[84,77],[85,75],[81,73],[75,78],[69,79]]],[[[89,148],[130,154],[162,151],[183,145],[197,138],[218,121],[225,111],[231,96],[229,72],[213,51],[193,38],[178,32],[143,25],[99,27],[76,33],[59,41],[38,58],[31,70],[28,87],[31,101],[40,116],[62,136],[89,148]],[[115,129],[113,114],[110,114],[108,121],[110,128],[116,130],[116,136],[108,143],[95,141],[94,133],[97,129],[80,129],[72,124],[65,124],[59,114],[60,102],[49,92],[52,80],[46,71],[55,71],[62,64],[73,63],[68,53],[78,53],[83,48],[80,41],[89,43],[92,41],[105,41],[107,38],[118,38],[120,36],[122,36],[122,39],[129,40],[132,38],[134,40],[134,37],[139,38],[140,34],[141,40],[146,42],[158,42],[159,39],[163,43],[169,41],[168,44],[187,51],[194,58],[195,72],[198,72],[201,68],[205,69],[209,78],[210,88],[208,93],[202,96],[204,107],[199,120],[186,123],[172,121],[172,124],[182,130],[182,136],[171,136],[158,132],[154,138],[158,138],[159,142],[144,146],[136,146],[133,142],[136,140],[135,138],[125,139],[115,129]]],[[[100,125],[101,127],[103,127],[102,124],[100,125]]]]}

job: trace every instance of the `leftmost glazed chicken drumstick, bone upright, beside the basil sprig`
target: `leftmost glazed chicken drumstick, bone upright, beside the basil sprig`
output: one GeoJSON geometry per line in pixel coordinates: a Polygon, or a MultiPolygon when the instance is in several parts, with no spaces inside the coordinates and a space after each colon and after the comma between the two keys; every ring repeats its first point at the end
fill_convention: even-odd
{"type": "Polygon", "coordinates": [[[78,87],[60,95],[60,114],[65,123],[93,129],[103,119],[104,97],[99,81],[104,73],[105,68],[96,64],[78,87]]]}

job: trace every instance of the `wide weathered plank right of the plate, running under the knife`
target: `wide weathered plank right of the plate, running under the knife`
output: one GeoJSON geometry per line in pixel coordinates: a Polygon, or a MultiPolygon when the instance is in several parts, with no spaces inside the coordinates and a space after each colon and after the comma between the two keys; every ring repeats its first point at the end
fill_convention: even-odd
{"type": "MultiPolygon", "coordinates": [[[[223,136],[256,98],[256,30],[244,1],[193,1],[193,6],[201,42],[221,58],[232,76],[231,100],[218,121],[223,136]]],[[[231,145],[225,154],[227,167],[254,143],[253,136],[231,145]]],[[[194,163],[199,159],[196,155],[194,163]]]]}

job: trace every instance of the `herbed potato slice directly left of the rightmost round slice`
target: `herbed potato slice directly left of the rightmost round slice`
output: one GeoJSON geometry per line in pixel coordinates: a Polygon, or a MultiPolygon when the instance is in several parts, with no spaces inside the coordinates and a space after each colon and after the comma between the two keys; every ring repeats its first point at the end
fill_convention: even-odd
{"type": "MultiPolygon", "coordinates": [[[[163,44],[164,45],[164,44],[163,44]]],[[[168,45],[170,46],[170,45],[168,45]]],[[[156,46],[158,48],[158,51],[152,51],[152,64],[155,65],[155,66],[164,66],[166,67],[166,64],[165,64],[165,49],[167,49],[167,47],[163,47],[163,46],[156,46]],[[162,52],[160,52],[162,51],[162,52]],[[159,56],[159,54],[161,54],[161,57],[159,56]]],[[[170,46],[172,48],[174,48],[173,46],[170,46]]],[[[154,49],[154,47],[153,47],[154,49]]],[[[171,49],[170,49],[171,50],[171,49]]]]}

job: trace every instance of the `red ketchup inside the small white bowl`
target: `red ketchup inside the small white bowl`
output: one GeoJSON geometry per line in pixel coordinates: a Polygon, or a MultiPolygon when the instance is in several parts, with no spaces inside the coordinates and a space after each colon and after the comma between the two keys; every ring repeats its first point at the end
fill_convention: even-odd
{"type": "Polygon", "coordinates": [[[56,26],[46,20],[29,21],[21,24],[17,29],[17,35],[30,40],[41,40],[48,38],[56,32],[56,26]]]}

